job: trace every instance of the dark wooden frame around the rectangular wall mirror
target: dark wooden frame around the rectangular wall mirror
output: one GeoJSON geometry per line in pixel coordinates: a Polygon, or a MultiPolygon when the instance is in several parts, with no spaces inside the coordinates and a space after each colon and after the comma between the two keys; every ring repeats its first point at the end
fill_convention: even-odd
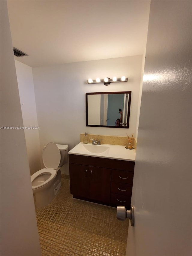
{"type": "Polygon", "coordinates": [[[129,128],[129,116],[130,116],[130,107],[131,107],[131,92],[86,92],[86,126],[92,127],[110,127],[110,128],[129,128]],[[113,125],[88,125],[88,95],[95,94],[129,94],[128,100],[128,116],[127,116],[127,125],[126,126],[113,126],[113,125]]]}

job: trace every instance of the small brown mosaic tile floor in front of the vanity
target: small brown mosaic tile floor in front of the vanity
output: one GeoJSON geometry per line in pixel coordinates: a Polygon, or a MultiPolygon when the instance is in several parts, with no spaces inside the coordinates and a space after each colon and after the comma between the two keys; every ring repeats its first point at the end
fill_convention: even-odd
{"type": "Polygon", "coordinates": [[[116,208],[73,199],[69,176],[46,207],[36,210],[41,254],[124,256],[128,219],[119,221],[116,208]]]}

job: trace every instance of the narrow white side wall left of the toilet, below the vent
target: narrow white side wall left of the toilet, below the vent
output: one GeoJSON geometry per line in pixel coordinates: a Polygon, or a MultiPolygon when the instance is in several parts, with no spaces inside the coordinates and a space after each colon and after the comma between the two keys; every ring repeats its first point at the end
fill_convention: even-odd
{"type": "MultiPolygon", "coordinates": [[[[15,60],[24,127],[38,127],[32,68],[15,60]]],[[[39,129],[25,129],[27,155],[31,175],[41,169],[39,129]]]]}

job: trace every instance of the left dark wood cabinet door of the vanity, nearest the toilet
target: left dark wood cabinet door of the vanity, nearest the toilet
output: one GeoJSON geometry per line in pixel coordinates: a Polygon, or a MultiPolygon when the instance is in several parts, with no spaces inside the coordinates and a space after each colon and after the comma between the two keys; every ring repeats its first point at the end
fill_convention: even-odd
{"type": "Polygon", "coordinates": [[[89,196],[89,170],[87,165],[69,164],[70,193],[73,196],[89,196]]]}

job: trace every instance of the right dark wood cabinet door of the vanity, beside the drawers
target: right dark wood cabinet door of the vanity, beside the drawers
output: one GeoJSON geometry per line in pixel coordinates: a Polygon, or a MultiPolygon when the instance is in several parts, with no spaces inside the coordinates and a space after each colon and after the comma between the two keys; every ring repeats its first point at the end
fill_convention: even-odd
{"type": "Polygon", "coordinates": [[[110,202],[111,169],[89,166],[89,198],[110,202]]]}

